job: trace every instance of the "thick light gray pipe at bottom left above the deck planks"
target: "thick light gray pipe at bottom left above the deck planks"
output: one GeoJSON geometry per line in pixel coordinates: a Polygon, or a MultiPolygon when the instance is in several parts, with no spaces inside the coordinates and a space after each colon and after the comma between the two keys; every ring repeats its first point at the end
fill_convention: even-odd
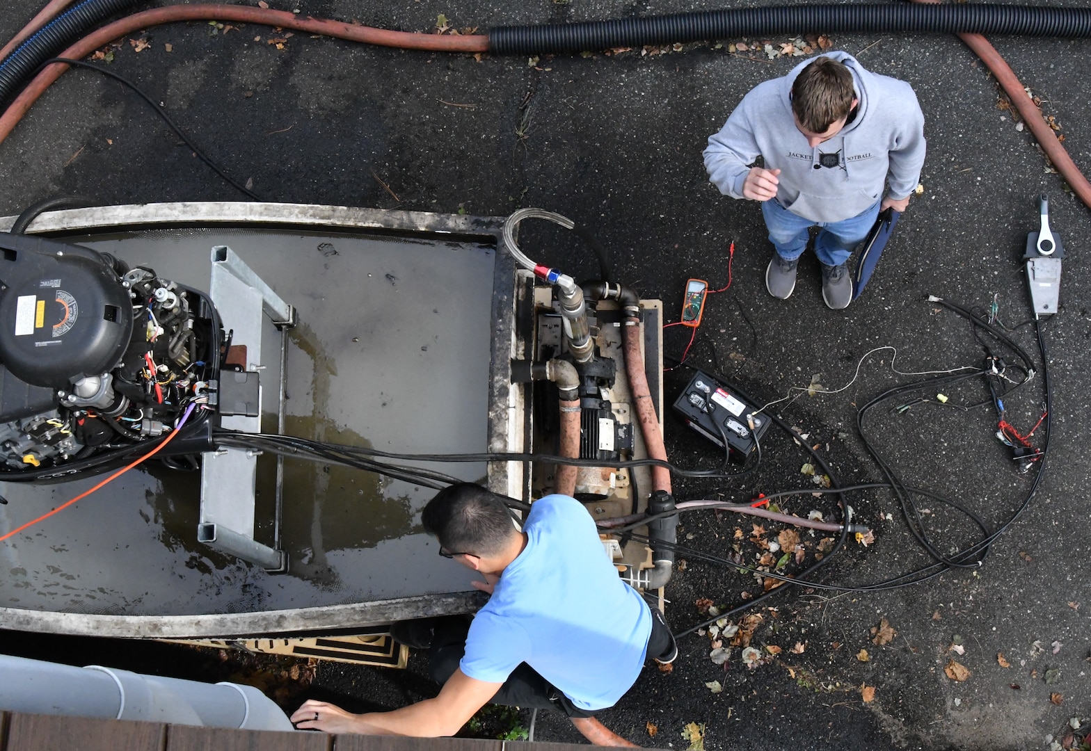
{"type": "Polygon", "coordinates": [[[252,686],[145,676],[0,655],[0,710],[175,725],[292,730],[273,700],[252,686]]]}

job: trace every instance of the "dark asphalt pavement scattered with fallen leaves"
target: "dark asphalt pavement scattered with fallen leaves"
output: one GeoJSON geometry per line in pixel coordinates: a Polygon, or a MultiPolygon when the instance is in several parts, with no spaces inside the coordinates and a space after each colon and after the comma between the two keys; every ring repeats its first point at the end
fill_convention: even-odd
{"type": "MultiPolygon", "coordinates": [[[[39,4],[10,3],[0,36],[9,38],[39,4]]],[[[268,1],[303,15],[423,33],[436,31],[441,15],[454,29],[483,32],[731,4],[268,1]]],[[[687,278],[706,279],[714,289],[730,279],[726,292],[709,298],[687,362],[718,371],[763,403],[787,397],[769,409],[798,436],[771,432],[762,467],[743,479],[679,481],[680,499],[818,489],[801,468],[817,468],[819,481],[826,471],[804,443],[829,463],[834,483],[880,482],[858,432],[861,407],[923,377],[901,374],[980,367],[986,344],[1017,361],[1010,348],[975,337],[967,319],[928,295],[982,315],[995,302],[997,319],[1018,326],[1008,334],[1033,360],[1035,377],[1011,393],[1007,417],[1028,433],[1043,412],[1045,368],[1034,326],[1019,326],[1032,317],[1021,257],[1027,233],[1038,228],[1036,198],[1047,194],[1051,225],[1067,253],[1059,311],[1041,327],[1052,391],[1048,453],[1034,497],[982,565],[915,584],[899,580],[935,561],[911,522],[927,531],[940,557],[973,544],[980,530],[934,497],[918,496],[916,511],[907,514],[887,489],[850,494],[855,519],[873,530],[874,541],[850,536],[807,579],[844,589],[786,585],[732,616],[728,626],[741,622],[754,652],[732,645],[738,634],[722,637],[721,649],[730,650],[722,664],[710,658],[716,645],[707,631],[682,638],[670,673],[646,669],[625,699],[601,714],[615,731],[656,748],[690,747],[684,735],[692,736],[687,726],[695,724],[708,749],[1046,749],[1052,739],[1065,741],[1074,718],[1077,726],[1091,718],[1091,588],[1083,561],[1091,548],[1091,481],[1080,437],[1091,389],[1091,280],[1082,261],[1091,214],[1028,130],[998,106],[994,78],[958,38],[830,33],[832,49],[916,90],[928,142],[923,191],[866,292],[848,310],[823,304],[813,257],[801,263],[790,300],[770,298],[763,276],[770,246],[759,208],[721,196],[700,154],[752,86],[802,59],[781,53],[784,45],[815,53],[819,39],[808,41],[810,31],[531,58],[401,51],[202,22],[147,29],[133,35],[134,44],[125,38],[108,68],[160,101],[263,199],[481,216],[551,209],[592,227],[613,255],[616,279],[662,299],[668,312],[681,305],[687,278]],[[280,41],[269,44],[274,38],[280,41]],[[137,52],[140,39],[147,46],[137,52]],[[861,589],[890,580],[906,585],[861,589]],[[751,620],[741,621],[747,615],[751,620]]],[[[1040,98],[1076,163],[1091,169],[1087,44],[993,43],[1040,98]]],[[[244,198],[146,104],[86,71],[62,76],[0,144],[0,215],[58,194],[101,205],[244,198]]],[[[523,245],[574,276],[595,274],[592,256],[563,232],[527,226],[523,245]]],[[[687,334],[668,329],[667,353],[682,356],[687,334]]],[[[1007,385],[1020,379],[1015,367],[1008,375],[1007,385]]],[[[668,396],[687,378],[685,367],[670,372],[668,396]]],[[[884,402],[868,412],[864,431],[902,483],[954,500],[992,533],[1020,509],[1041,462],[1020,473],[1011,449],[996,438],[982,379],[949,391],[946,405],[936,399],[939,391],[927,390],[884,402]]],[[[1044,427],[1032,445],[1044,444],[1044,427]]],[[[668,417],[666,431],[678,463],[719,461],[711,444],[675,419],[668,417]]],[[[838,517],[828,496],[779,502],[800,516],[838,517]]],[[[693,513],[683,519],[680,541],[757,565],[780,528],[755,533],[755,521],[693,513]]],[[[786,571],[814,562],[820,535],[804,534],[802,543],[801,568],[792,561],[786,571]]],[[[781,555],[775,552],[767,568],[781,555]]],[[[709,604],[726,611],[745,604],[744,593],[763,590],[735,566],[680,557],[684,569],[666,593],[668,620],[679,631],[706,620],[709,604]]],[[[323,666],[312,691],[355,708],[393,707],[427,695],[419,658],[410,668],[323,666]]],[[[546,716],[537,738],[578,740],[565,720],[546,716]]]]}

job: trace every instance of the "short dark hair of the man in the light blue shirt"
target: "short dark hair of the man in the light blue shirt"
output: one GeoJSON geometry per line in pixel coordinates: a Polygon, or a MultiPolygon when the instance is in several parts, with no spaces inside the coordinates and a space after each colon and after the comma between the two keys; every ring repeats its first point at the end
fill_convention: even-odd
{"type": "Polygon", "coordinates": [[[445,487],[428,501],[421,514],[424,531],[435,535],[447,553],[493,556],[517,534],[504,496],[473,483],[445,487]]]}

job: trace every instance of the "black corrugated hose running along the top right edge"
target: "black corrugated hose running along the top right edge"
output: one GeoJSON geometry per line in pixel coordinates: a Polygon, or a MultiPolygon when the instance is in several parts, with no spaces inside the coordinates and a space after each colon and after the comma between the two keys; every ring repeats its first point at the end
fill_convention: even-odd
{"type": "Polygon", "coordinates": [[[496,54],[579,52],[800,32],[1091,36],[1091,9],[996,4],[796,5],[700,11],[489,31],[496,54]]]}

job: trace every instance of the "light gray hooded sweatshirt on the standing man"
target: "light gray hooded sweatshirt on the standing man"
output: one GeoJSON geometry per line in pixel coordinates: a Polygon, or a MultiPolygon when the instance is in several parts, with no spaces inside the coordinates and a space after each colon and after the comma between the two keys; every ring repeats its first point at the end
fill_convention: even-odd
{"type": "Polygon", "coordinates": [[[829,52],[852,71],[856,114],[814,148],[792,118],[792,82],[814,60],[755,86],[719,133],[709,136],[705,169],[720,193],[743,197],[750,165],[760,155],[780,169],[777,202],[811,221],[841,221],[886,195],[900,201],[916,187],[924,165],[924,114],[904,81],[871,73],[848,52],[829,52]]]}

